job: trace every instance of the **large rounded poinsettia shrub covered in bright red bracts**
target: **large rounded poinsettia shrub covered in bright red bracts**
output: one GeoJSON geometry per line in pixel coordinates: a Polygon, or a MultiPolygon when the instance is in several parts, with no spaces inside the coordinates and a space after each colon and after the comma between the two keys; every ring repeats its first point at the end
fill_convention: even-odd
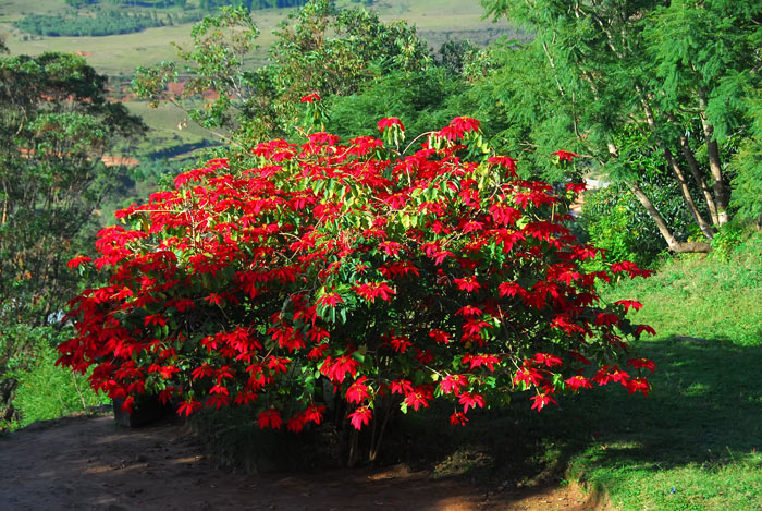
{"type": "Polygon", "coordinates": [[[119,211],[128,227],[98,234],[100,257],[70,264],[110,280],[71,301],[59,362],[127,409],[144,392],[181,415],[247,405],[261,428],[299,431],[341,402],[376,445],[391,410],[437,399],[462,425],[518,391],[537,411],[595,385],[649,392],[630,344],[652,330],[626,318],[640,304],[595,291],[648,271],[582,271],[601,257],[569,231],[582,184],[518,179],[472,119],[410,155],[397,119],[379,129],[391,148],[276,139],[119,211]]]}

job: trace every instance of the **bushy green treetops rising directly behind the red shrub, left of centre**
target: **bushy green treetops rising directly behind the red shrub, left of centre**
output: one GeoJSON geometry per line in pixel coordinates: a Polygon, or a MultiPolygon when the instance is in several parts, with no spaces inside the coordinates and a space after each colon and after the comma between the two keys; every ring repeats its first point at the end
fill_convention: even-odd
{"type": "Polygon", "coordinates": [[[246,146],[295,135],[300,122],[295,106],[303,96],[356,94],[376,77],[420,71],[431,61],[426,44],[407,24],[384,24],[374,13],[340,10],[328,0],[310,1],[290,14],[274,34],[271,63],[250,71],[244,63],[258,35],[246,9],[223,9],[194,27],[193,48],[179,48],[190,76],[182,82],[182,94],[168,90],[180,81],[175,62],[138,69],[133,89],[153,105],[175,102],[220,138],[246,146]]]}

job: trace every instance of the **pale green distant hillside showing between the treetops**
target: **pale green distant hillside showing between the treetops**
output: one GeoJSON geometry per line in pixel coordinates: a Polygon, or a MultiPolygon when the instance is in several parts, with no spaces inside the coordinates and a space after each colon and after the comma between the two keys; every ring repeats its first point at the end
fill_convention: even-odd
{"type": "MultiPolygon", "coordinates": [[[[201,0],[201,5],[209,4],[201,0]]],[[[236,2],[217,2],[219,4],[236,2]]],[[[288,2],[279,2],[288,3],[288,2]]],[[[337,7],[357,7],[360,2],[340,0],[337,7]]],[[[213,4],[213,2],[212,2],[213,4]]],[[[143,160],[179,158],[194,149],[214,143],[210,134],[187,122],[187,114],[172,107],[150,108],[146,101],[131,94],[130,86],[138,66],[150,66],[157,62],[176,59],[179,45],[192,47],[190,28],[212,9],[201,9],[197,0],[187,2],[130,2],[40,0],[33,3],[24,0],[8,0],[0,8],[0,34],[7,34],[11,54],[40,54],[45,51],[62,51],[84,56],[87,63],[101,74],[109,76],[111,96],[125,101],[132,113],[140,115],[149,127],[147,139],[137,148],[135,156],[143,160]],[[116,3],[116,4],[114,4],[116,3]],[[174,4],[173,4],[174,3],[174,4]],[[77,4],[75,9],[72,4],[77,4]],[[162,8],[161,5],[169,7],[162,8]],[[184,5],[183,5],[184,4],[184,5]],[[181,7],[182,5],[182,7],[181,7]],[[119,12],[124,16],[153,16],[165,26],[151,26],[139,32],[97,37],[53,37],[25,32],[20,22],[29,16],[59,17],[62,25],[74,16],[95,16],[98,12],[119,12]]],[[[405,20],[418,29],[419,36],[434,50],[447,41],[468,39],[486,46],[502,36],[521,37],[506,21],[493,22],[483,19],[483,9],[478,0],[381,0],[362,2],[362,7],[378,12],[383,22],[405,20]]],[[[245,66],[257,69],[268,62],[268,51],[275,41],[273,31],[292,13],[292,8],[260,9],[254,11],[254,20],[260,31],[258,47],[246,56],[245,66]]]]}

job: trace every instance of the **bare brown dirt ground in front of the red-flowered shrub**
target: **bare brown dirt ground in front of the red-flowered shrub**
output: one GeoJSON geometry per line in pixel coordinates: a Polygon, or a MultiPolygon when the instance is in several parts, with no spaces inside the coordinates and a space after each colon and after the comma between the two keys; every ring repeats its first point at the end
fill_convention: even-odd
{"type": "Polygon", "coordinates": [[[582,510],[569,488],[489,492],[403,467],[257,476],[217,470],[179,422],[74,417],[0,438],[0,509],[582,510]]]}

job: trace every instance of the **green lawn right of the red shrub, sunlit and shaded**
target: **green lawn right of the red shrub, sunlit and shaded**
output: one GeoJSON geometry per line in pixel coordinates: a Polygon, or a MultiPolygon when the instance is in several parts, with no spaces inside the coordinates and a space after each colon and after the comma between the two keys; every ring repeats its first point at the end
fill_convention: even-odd
{"type": "Polygon", "coordinates": [[[762,233],[727,260],[684,256],[605,295],[644,304],[654,390],[580,398],[600,437],[577,446],[570,474],[623,510],[762,509],[762,233]]]}

